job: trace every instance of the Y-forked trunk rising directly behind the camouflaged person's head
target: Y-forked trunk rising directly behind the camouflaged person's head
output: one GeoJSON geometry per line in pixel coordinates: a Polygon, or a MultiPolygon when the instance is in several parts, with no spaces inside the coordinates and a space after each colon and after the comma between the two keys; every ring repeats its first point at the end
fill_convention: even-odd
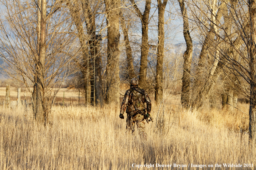
{"type": "Polygon", "coordinates": [[[139,77],[139,85],[141,88],[147,89],[147,56],[148,56],[148,20],[150,14],[150,4],[151,0],[146,0],[145,10],[142,14],[140,9],[137,7],[134,0],[130,0],[133,4],[133,7],[140,18],[141,21],[141,46],[140,46],[140,77],[139,77]]]}

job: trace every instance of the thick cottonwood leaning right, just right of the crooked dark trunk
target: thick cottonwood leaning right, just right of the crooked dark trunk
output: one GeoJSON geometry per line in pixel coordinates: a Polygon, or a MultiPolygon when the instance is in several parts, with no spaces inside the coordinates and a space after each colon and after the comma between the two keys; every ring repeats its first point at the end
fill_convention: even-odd
{"type": "Polygon", "coordinates": [[[216,0],[202,3],[191,0],[188,8],[198,29],[203,33],[204,40],[198,59],[196,78],[193,83],[193,93],[190,106],[198,109],[203,106],[203,101],[208,97],[215,76],[215,71],[219,63],[219,25],[223,12],[227,10],[225,3],[216,0]],[[198,5],[200,4],[200,6],[198,5]],[[195,12],[195,10],[197,12],[195,12]],[[217,48],[212,48],[217,47],[217,48]]]}

